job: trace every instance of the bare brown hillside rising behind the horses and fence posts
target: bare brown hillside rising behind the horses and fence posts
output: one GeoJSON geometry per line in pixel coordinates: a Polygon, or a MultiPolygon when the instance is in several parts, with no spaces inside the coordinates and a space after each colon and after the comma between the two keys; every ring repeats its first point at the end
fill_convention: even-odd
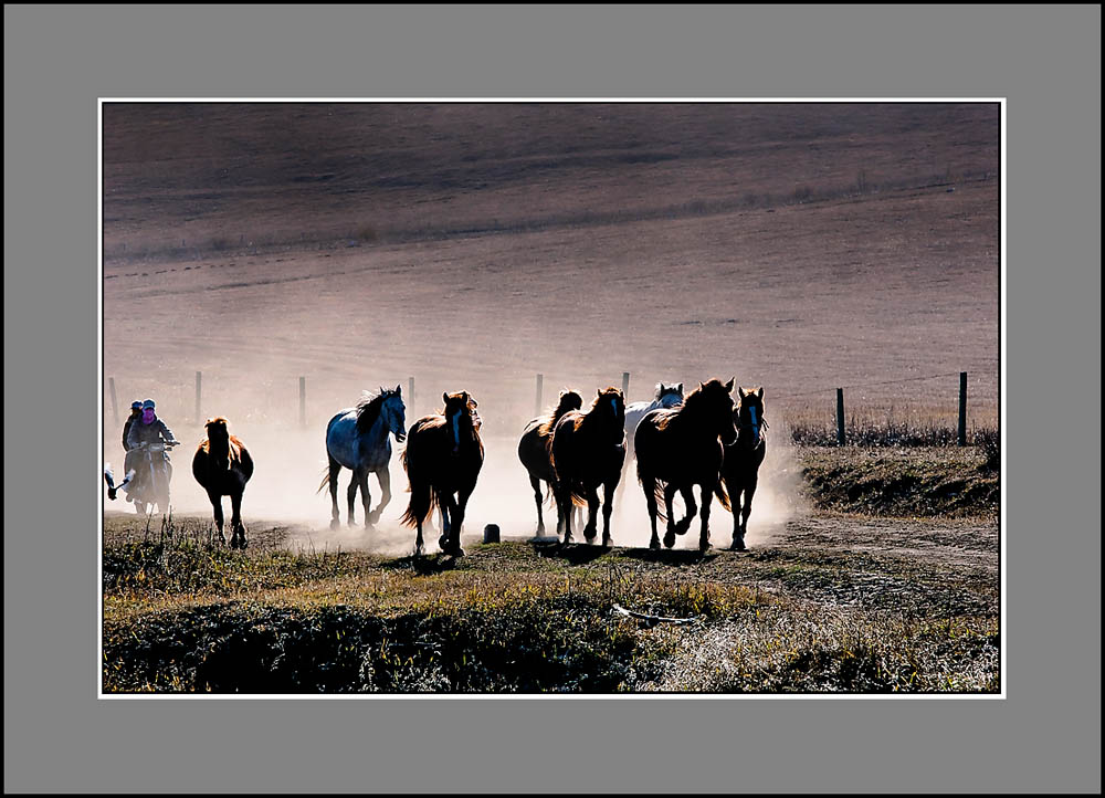
{"type": "Polygon", "coordinates": [[[992,426],[999,123],[994,104],[107,104],[105,376],[190,426],[199,370],[201,416],[273,431],[297,428],[304,376],[311,473],[337,409],[410,377],[409,419],[466,388],[507,443],[537,372],[546,403],[623,371],[630,400],[736,376],[777,426],[831,423],[838,386],[850,412],[954,424],[965,370],[992,426]]]}

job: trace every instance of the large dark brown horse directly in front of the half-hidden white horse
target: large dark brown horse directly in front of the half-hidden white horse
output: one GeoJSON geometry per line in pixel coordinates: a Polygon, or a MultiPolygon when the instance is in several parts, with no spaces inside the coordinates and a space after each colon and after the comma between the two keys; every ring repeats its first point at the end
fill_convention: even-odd
{"type": "Polygon", "coordinates": [[[644,501],[649,505],[652,522],[652,539],[649,547],[660,548],[656,536],[656,516],[666,517],[667,533],[664,545],[675,545],[675,536],[691,528],[697,507],[694,502],[694,486],[702,495],[702,532],[698,548],[709,548],[709,505],[716,493],[722,506],[729,508],[728,496],[722,489],[723,443],[733,443],[737,431],[733,427],[734,380],[722,382],[712,379],[698,387],[683,400],[683,405],[670,410],[653,410],[636,428],[634,449],[636,450],[636,473],[644,490],[644,501]],[[720,439],[720,442],[718,441],[720,439]],[[680,493],[686,503],[686,517],[678,523],[672,514],[672,500],[680,493]],[[657,510],[657,498],[664,498],[666,514],[657,510]]]}

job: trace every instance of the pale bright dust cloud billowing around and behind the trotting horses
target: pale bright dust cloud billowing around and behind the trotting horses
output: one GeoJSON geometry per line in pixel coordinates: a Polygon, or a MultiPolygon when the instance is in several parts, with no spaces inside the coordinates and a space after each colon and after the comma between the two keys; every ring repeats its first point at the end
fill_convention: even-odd
{"type": "MultiPolygon", "coordinates": [[[[565,369],[565,372],[567,371],[568,369],[565,369]]],[[[706,377],[707,375],[702,375],[702,379],[706,377]]],[[[696,384],[682,375],[657,375],[656,379],[644,385],[641,385],[643,380],[631,382],[630,400],[651,399],[652,387],[660,379],[683,380],[687,385],[696,384]]],[[[241,384],[234,385],[220,379],[217,384],[212,380],[204,390],[204,408],[210,407],[210,410],[204,410],[203,416],[227,417],[231,433],[242,440],[255,463],[253,477],[243,498],[242,514],[248,526],[286,525],[288,545],[298,549],[340,548],[396,555],[409,554],[413,547],[414,531],[402,526],[399,518],[407,508],[410,494],[407,475],[399,459],[403,444],[397,443],[393,437],[389,464],[391,500],[373,528],[364,527],[364,507],[359,494],[355,503],[355,524],[352,526],[347,524],[346,491],[351,472],[343,470],[338,477],[339,528],[329,528],[328,489],[318,491],[326,473],[325,429],[329,418],[339,410],[351,407],[360,397],[361,390],[376,392],[381,386],[394,388],[398,385],[401,386],[407,402],[408,429],[421,416],[440,410],[440,397],[443,390],[465,389],[480,402],[485,460],[475,492],[469,502],[463,531],[464,542],[482,539],[483,528],[487,524],[497,524],[503,539],[528,539],[535,535],[537,513],[533,489],[517,455],[518,438],[526,422],[534,416],[535,381],[528,381],[526,385],[527,381],[524,380],[496,380],[488,378],[487,375],[467,380],[449,380],[436,375],[430,378],[423,376],[415,385],[413,408],[409,396],[409,382],[398,380],[394,376],[390,380],[369,384],[370,388],[367,386],[357,388],[352,384],[339,386],[335,382],[322,389],[327,391],[325,398],[316,396],[307,403],[308,416],[304,427],[301,427],[297,418],[297,397],[291,396],[292,392],[288,391],[290,396],[284,397],[285,401],[274,400],[272,384],[276,381],[278,380],[243,379],[241,384]],[[291,401],[287,401],[288,399],[291,401]],[[328,409],[324,409],[326,405],[329,406],[328,409]]],[[[287,382],[292,385],[291,379],[287,382]]],[[[618,380],[607,381],[596,380],[593,375],[554,381],[549,375],[544,380],[544,409],[549,409],[548,406],[555,402],[559,390],[564,388],[573,388],[586,397],[610,384],[620,385],[620,375],[618,380]]],[[[210,519],[211,505],[207,494],[191,474],[191,459],[204,431],[196,423],[194,408],[189,408],[189,402],[179,398],[183,393],[181,386],[176,384],[159,386],[156,380],[149,378],[129,381],[127,385],[136,397],[164,397],[158,401],[160,417],[182,442],[171,455],[173,474],[170,490],[173,514],[210,519]]],[[[316,392],[322,391],[316,390],[316,392]]],[[[126,407],[129,401],[123,405],[126,407]]],[[[117,472],[122,470],[124,456],[119,438],[120,428],[115,427],[108,410],[105,420],[104,460],[113,463],[117,472]]],[[[774,529],[780,528],[798,512],[796,498],[798,476],[789,449],[769,441],[768,455],[760,473],[760,484],[749,522],[747,538],[749,543],[762,543],[769,539],[774,529]]],[[[623,483],[615,496],[611,522],[614,545],[648,546],[649,517],[644,494],[636,481],[634,464],[630,464],[627,470],[623,483]]],[[[369,477],[369,490],[371,507],[376,508],[381,498],[381,490],[375,475],[369,477]]],[[[677,503],[678,501],[676,500],[677,503]]],[[[229,498],[223,500],[223,506],[229,519],[229,498]]],[[[682,514],[682,505],[678,506],[678,512],[682,514]]],[[[126,505],[120,495],[116,502],[105,500],[105,510],[133,512],[133,505],[126,505]]],[[[546,535],[552,535],[556,529],[556,510],[552,503],[547,502],[543,506],[543,512],[546,535]]],[[[660,523],[663,534],[663,522],[660,523]]],[[[436,547],[438,524],[439,519],[434,517],[434,528],[427,527],[424,531],[429,552],[434,552],[436,547]]],[[[601,511],[599,524],[601,525],[601,511]]],[[[732,515],[715,500],[711,517],[712,542],[715,546],[728,545],[732,527],[732,515]]],[[[676,542],[676,547],[697,546],[697,529],[698,525],[695,522],[691,532],[676,542]]],[[[576,540],[583,539],[582,531],[578,526],[573,531],[573,536],[576,540]]]]}

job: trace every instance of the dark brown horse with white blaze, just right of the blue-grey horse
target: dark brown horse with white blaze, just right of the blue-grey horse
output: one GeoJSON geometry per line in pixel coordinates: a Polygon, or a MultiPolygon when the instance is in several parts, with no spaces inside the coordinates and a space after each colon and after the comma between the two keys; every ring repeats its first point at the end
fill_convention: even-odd
{"type": "Polygon", "coordinates": [[[422,524],[438,507],[442,522],[438,545],[445,554],[461,557],[461,524],[483,465],[483,442],[475,399],[467,391],[442,393],[441,398],[445,401],[442,411],[420,418],[407,437],[402,461],[411,501],[401,521],[418,528],[414,555],[421,556],[422,524]]]}

